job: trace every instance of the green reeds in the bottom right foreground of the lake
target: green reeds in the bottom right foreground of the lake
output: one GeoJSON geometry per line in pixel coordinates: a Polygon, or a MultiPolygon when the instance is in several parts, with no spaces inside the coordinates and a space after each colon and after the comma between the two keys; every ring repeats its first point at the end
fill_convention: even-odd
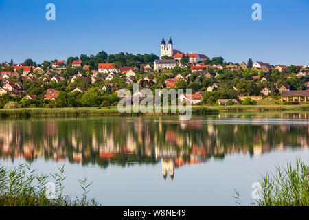
{"type": "MultiPolygon", "coordinates": [[[[258,206],[309,206],[309,166],[297,159],[296,166],[275,166],[276,172],[262,175],[258,206]]],[[[240,194],[236,190],[236,203],[240,205],[240,194]]]]}

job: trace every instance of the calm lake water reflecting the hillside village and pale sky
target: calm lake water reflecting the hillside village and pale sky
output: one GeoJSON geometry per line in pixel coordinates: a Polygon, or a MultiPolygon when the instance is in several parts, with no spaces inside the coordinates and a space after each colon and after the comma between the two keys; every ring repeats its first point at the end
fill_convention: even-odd
{"type": "Polygon", "coordinates": [[[65,192],[94,181],[105,206],[250,205],[251,185],[275,164],[308,162],[306,113],[101,117],[0,121],[0,164],[65,164],[65,192]]]}

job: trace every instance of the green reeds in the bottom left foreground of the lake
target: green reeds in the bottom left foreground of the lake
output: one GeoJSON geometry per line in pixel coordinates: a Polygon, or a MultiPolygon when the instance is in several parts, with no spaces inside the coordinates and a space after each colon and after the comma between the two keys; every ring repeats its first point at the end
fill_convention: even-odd
{"type": "Polygon", "coordinates": [[[49,175],[35,172],[29,164],[12,169],[0,166],[0,206],[100,206],[94,199],[87,199],[91,185],[87,179],[79,180],[84,191],[81,199],[63,195],[64,166],[49,175]],[[51,180],[56,186],[52,194],[47,185],[51,180]]]}

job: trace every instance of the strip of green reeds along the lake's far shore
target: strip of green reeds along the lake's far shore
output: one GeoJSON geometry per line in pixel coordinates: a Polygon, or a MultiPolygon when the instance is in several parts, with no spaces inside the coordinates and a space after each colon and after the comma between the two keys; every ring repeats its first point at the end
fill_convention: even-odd
{"type": "MultiPolygon", "coordinates": [[[[241,111],[308,111],[309,104],[301,105],[235,105],[235,106],[194,106],[192,115],[204,115],[219,112],[241,111]]],[[[162,111],[161,111],[162,112],[162,111]]],[[[119,113],[117,107],[80,107],[55,109],[0,109],[0,118],[32,118],[32,117],[67,117],[67,116],[104,116],[104,115],[179,115],[180,113],[119,113]]]]}

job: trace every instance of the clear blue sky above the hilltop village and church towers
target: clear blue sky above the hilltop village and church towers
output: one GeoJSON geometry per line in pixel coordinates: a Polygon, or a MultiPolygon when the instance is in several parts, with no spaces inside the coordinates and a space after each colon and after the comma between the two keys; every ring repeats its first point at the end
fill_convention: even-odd
{"type": "Polygon", "coordinates": [[[0,61],[80,54],[159,55],[162,36],[182,52],[225,61],[309,63],[309,0],[0,0],[0,61]],[[56,21],[47,21],[47,3],[56,21]],[[253,3],[262,21],[253,21],[253,3]]]}

